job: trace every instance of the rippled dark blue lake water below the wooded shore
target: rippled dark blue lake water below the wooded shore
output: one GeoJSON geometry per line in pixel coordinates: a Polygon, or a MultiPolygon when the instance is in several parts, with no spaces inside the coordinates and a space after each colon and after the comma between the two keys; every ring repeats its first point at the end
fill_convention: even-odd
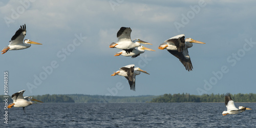
{"type": "MultiPolygon", "coordinates": [[[[4,103],[2,108],[4,108],[4,103]]],[[[1,109],[0,127],[256,127],[256,103],[237,115],[222,116],[224,103],[38,103],[1,109]]]]}

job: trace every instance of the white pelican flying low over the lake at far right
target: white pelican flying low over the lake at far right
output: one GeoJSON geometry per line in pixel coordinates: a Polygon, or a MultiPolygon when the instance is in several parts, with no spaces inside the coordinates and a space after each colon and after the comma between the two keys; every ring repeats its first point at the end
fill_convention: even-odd
{"type": "Polygon", "coordinates": [[[244,112],[245,110],[251,110],[249,108],[239,106],[239,109],[234,106],[234,101],[231,99],[230,93],[225,95],[225,105],[227,107],[227,111],[223,111],[222,115],[225,116],[227,114],[238,114],[244,112]]]}

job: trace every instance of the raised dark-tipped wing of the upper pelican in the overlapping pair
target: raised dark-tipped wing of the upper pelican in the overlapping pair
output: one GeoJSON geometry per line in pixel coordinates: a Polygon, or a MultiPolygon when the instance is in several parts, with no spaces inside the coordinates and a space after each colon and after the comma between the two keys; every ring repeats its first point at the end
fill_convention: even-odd
{"type": "Polygon", "coordinates": [[[121,27],[116,36],[119,40],[131,40],[131,28],[121,27]]]}

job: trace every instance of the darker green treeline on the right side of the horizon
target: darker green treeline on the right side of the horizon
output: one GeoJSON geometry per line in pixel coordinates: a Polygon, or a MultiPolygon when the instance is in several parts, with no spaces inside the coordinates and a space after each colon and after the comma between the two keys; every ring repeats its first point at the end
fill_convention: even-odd
{"type": "MultiPolygon", "coordinates": [[[[256,102],[256,94],[231,94],[234,102],[256,102]]],[[[163,96],[153,98],[151,102],[225,102],[225,94],[204,94],[190,95],[182,94],[164,94],[163,96]]]]}

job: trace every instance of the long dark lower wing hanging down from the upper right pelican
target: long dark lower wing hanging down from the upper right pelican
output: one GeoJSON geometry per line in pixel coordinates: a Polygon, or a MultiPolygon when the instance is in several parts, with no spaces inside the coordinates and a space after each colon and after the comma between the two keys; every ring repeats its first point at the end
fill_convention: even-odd
{"type": "Polygon", "coordinates": [[[190,57],[188,55],[187,49],[185,49],[183,52],[178,52],[176,50],[167,50],[170,54],[173,54],[176,56],[181,63],[184,65],[187,71],[192,71],[193,66],[190,60],[190,57]]]}

